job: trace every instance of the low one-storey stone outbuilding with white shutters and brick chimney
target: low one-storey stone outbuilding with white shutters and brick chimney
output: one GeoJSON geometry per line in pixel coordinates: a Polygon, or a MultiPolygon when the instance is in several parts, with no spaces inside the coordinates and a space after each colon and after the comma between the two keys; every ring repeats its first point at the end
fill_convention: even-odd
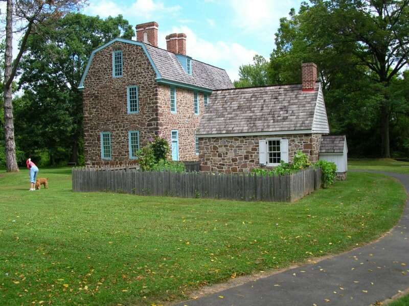
{"type": "Polygon", "coordinates": [[[209,101],[197,130],[201,171],[275,167],[298,150],[319,160],[329,125],[315,64],[302,64],[301,84],[218,89],[209,101]]]}

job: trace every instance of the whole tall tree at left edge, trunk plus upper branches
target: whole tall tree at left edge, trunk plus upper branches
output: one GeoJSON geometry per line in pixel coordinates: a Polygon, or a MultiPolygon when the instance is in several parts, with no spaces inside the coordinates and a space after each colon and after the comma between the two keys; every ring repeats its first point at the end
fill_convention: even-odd
{"type": "Polygon", "coordinates": [[[29,36],[36,32],[40,25],[45,25],[53,19],[58,19],[67,12],[79,9],[82,0],[7,0],[6,10],[6,48],[4,69],[4,129],[6,147],[6,170],[18,171],[16,159],[16,146],[14,139],[14,119],[12,104],[12,84],[16,76],[20,59],[26,51],[29,36]],[[18,22],[23,26],[13,30],[13,23],[18,22]],[[17,56],[13,56],[13,32],[22,33],[17,56]]]}

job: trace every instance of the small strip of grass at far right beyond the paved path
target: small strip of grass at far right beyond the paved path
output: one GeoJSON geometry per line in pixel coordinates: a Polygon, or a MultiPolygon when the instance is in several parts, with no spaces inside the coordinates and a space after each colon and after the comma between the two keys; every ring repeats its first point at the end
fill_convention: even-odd
{"type": "Polygon", "coordinates": [[[409,174],[409,162],[391,158],[348,160],[348,170],[352,169],[409,174]]]}

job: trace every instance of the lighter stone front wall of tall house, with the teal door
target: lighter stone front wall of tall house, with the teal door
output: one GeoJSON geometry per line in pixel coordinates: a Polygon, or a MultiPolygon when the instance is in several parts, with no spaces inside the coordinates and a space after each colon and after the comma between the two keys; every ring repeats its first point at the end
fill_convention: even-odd
{"type": "Polygon", "coordinates": [[[176,87],[176,113],[170,111],[170,87],[158,86],[159,134],[171,143],[171,132],[177,130],[179,135],[179,159],[197,160],[195,153],[195,131],[205,111],[203,93],[198,92],[199,114],[194,114],[191,90],[176,87]]]}

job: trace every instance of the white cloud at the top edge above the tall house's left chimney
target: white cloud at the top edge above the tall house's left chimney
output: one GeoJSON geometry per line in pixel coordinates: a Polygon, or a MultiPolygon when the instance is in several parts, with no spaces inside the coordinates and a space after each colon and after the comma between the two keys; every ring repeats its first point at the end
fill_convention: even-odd
{"type": "Polygon", "coordinates": [[[99,15],[101,17],[117,16],[123,14],[127,17],[151,18],[153,14],[157,16],[162,13],[175,13],[180,10],[180,6],[165,6],[163,2],[154,0],[137,0],[131,5],[121,5],[109,0],[92,0],[85,9],[85,13],[99,15]]]}

